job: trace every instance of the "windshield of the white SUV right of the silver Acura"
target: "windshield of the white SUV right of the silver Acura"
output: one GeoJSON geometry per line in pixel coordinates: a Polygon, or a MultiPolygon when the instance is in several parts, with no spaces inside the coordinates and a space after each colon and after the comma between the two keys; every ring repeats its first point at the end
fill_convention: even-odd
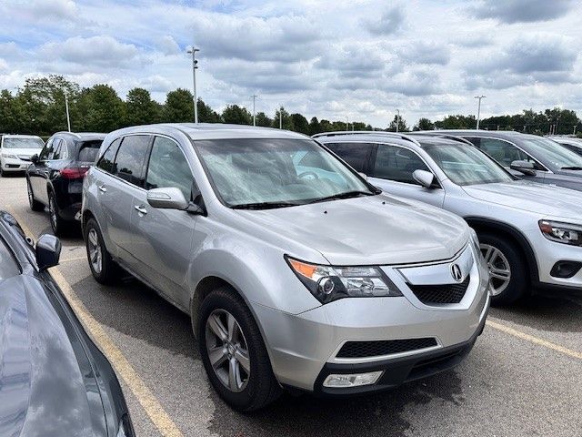
{"type": "Polygon", "coordinates": [[[477,147],[447,144],[426,146],[424,149],[457,185],[492,184],[513,180],[503,168],[477,147]]]}

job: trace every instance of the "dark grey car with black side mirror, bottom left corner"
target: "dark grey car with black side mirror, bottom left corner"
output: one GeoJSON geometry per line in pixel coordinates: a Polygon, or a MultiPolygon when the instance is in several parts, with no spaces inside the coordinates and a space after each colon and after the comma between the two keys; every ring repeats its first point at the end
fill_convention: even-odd
{"type": "Polygon", "coordinates": [[[111,364],[47,269],[60,241],[36,245],[0,211],[0,429],[2,435],[132,437],[111,364]]]}

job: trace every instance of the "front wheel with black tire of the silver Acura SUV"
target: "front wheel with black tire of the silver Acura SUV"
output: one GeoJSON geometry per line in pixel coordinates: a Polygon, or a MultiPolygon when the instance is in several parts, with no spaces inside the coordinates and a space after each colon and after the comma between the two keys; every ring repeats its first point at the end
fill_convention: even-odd
{"type": "Polygon", "coordinates": [[[235,290],[224,286],[211,291],[200,306],[197,320],[198,348],[206,374],[218,395],[228,405],[240,412],[253,412],[279,397],[281,387],[273,374],[263,337],[245,301],[235,290]],[[219,340],[215,333],[216,326],[213,329],[214,323],[207,320],[224,320],[222,328],[226,330],[227,335],[228,316],[234,317],[236,321],[231,323],[235,332],[234,340],[219,340]],[[212,349],[218,353],[216,356],[221,356],[217,361],[223,362],[216,366],[217,371],[210,361],[212,349]],[[246,357],[246,364],[243,364],[245,362],[243,359],[236,360],[241,357],[246,357]],[[228,372],[232,369],[230,364],[233,360],[236,361],[239,376],[239,379],[234,381],[234,390],[228,372]],[[246,371],[246,367],[249,371],[246,371]]]}

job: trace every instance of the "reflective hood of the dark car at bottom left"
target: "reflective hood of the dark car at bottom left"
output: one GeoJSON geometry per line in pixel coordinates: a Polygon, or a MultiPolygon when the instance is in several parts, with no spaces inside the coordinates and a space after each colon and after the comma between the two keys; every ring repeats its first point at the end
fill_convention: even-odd
{"type": "Polygon", "coordinates": [[[94,371],[54,303],[34,277],[0,282],[0,435],[106,435],[94,371]]]}

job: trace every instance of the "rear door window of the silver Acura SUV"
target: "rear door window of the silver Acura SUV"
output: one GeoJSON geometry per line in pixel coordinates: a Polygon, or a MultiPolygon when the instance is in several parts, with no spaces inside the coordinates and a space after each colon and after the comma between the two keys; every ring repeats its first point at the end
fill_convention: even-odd
{"type": "Polygon", "coordinates": [[[144,186],[144,167],[149,140],[149,135],[124,137],[115,157],[115,176],[137,187],[144,186]]]}

